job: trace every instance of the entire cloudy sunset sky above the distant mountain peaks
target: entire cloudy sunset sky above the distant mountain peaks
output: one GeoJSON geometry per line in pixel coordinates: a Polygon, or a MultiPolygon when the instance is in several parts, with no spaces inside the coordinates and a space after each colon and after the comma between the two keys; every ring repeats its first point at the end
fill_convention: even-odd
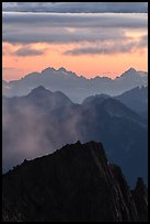
{"type": "Polygon", "coordinates": [[[86,78],[147,71],[148,3],[2,2],[3,79],[47,67],[86,78]]]}

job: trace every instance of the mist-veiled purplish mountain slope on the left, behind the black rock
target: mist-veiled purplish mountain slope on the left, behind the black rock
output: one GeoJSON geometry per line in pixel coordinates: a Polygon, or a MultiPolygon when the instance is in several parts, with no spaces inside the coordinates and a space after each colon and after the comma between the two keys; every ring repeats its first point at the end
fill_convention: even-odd
{"type": "Polygon", "coordinates": [[[34,158],[50,153],[48,145],[51,152],[60,147],[64,136],[59,131],[59,119],[61,111],[71,104],[64,93],[51,92],[44,87],[35,88],[25,97],[3,97],[3,171],[25,157],[34,158]]]}

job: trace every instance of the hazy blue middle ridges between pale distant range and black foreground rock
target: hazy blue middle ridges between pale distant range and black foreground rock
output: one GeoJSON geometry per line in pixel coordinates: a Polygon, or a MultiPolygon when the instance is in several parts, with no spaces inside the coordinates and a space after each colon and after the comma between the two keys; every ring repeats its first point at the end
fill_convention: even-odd
{"type": "MultiPolygon", "coordinates": [[[[139,99],[143,89],[136,90],[139,99]]],[[[136,98],[131,99],[136,103],[136,98]]],[[[145,104],[142,100],[138,103],[145,104]]],[[[147,181],[147,120],[119,99],[99,96],[74,104],[61,92],[38,87],[26,97],[3,97],[2,110],[3,172],[24,158],[49,154],[80,139],[103,142],[108,158],[122,167],[130,184],[138,176],[147,181]]]]}

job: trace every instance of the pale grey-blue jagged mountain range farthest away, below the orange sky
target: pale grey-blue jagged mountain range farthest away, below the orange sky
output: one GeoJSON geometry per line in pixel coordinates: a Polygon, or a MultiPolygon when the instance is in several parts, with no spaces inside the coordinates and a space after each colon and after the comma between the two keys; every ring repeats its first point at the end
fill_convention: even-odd
{"type": "Polygon", "coordinates": [[[147,86],[148,74],[130,68],[115,79],[107,77],[86,79],[65,68],[58,70],[46,68],[42,72],[32,72],[20,80],[9,82],[3,80],[2,91],[7,97],[25,96],[41,85],[51,91],[59,90],[73,102],[81,103],[85,98],[93,94],[117,96],[132,88],[147,86]]]}

